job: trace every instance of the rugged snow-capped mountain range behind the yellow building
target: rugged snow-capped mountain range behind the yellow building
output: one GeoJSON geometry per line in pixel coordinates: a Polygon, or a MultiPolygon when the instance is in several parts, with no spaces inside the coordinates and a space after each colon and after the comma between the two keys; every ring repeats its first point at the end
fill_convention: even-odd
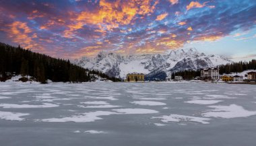
{"type": "Polygon", "coordinates": [[[171,50],[165,54],[134,54],[122,56],[113,52],[99,52],[95,58],[82,57],[73,63],[87,69],[96,69],[112,77],[127,73],[168,75],[172,71],[216,67],[231,61],[219,55],[207,55],[195,48],[171,50]]]}

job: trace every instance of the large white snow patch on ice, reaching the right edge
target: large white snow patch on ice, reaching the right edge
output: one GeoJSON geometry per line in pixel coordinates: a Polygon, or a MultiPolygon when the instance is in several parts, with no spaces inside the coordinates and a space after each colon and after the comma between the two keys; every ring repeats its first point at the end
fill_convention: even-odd
{"type": "Polygon", "coordinates": [[[243,106],[231,104],[230,106],[208,106],[215,108],[215,110],[209,110],[202,115],[205,117],[216,117],[216,118],[239,118],[256,115],[256,111],[245,110],[243,106]]]}

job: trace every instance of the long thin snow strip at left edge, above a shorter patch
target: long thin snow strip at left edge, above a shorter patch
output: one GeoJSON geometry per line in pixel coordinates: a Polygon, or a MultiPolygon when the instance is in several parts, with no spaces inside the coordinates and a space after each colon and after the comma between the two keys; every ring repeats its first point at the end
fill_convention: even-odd
{"type": "Polygon", "coordinates": [[[0,104],[3,108],[54,108],[59,106],[58,104],[42,103],[41,105],[31,104],[0,104]]]}

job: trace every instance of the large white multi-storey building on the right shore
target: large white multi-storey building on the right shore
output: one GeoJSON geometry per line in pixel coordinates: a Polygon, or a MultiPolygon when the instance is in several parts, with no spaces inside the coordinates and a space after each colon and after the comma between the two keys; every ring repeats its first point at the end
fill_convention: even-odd
{"type": "Polygon", "coordinates": [[[202,69],[201,79],[220,79],[220,70],[218,68],[202,69]]]}

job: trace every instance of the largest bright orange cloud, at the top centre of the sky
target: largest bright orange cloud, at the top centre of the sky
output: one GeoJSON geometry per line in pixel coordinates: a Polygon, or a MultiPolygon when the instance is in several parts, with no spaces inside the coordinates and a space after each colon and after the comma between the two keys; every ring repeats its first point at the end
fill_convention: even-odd
{"type": "Polygon", "coordinates": [[[146,15],[154,12],[158,1],[151,5],[152,0],[131,0],[131,1],[115,1],[108,2],[101,0],[99,9],[96,11],[82,11],[81,13],[72,13],[73,24],[69,24],[68,30],[65,30],[64,36],[72,38],[75,30],[81,29],[85,24],[93,24],[99,27],[101,32],[112,31],[120,25],[131,24],[135,19],[135,15],[146,15]]]}

